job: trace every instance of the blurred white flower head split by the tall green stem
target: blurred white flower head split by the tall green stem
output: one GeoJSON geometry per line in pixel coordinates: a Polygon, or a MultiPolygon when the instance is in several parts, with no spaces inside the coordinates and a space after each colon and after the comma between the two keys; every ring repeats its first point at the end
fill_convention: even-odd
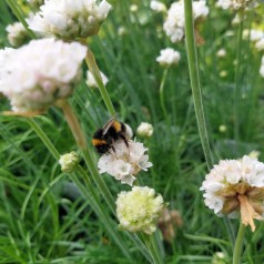
{"type": "MultiPolygon", "coordinates": [[[[197,24],[209,14],[206,2],[193,1],[193,20],[197,24]]],[[[166,20],[163,29],[173,43],[183,40],[184,38],[184,4],[183,1],[172,3],[167,11],[166,20]]]]}

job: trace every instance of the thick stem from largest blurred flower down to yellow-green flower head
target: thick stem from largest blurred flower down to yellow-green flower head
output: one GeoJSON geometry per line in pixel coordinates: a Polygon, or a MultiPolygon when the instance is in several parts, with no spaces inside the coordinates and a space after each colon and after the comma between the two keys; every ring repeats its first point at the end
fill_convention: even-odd
{"type": "Polygon", "coordinates": [[[89,148],[87,145],[87,141],[83,134],[83,131],[81,129],[81,125],[75,116],[75,113],[72,111],[71,105],[68,103],[68,101],[63,100],[58,103],[58,106],[60,106],[64,113],[64,116],[68,121],[68,124],[72,131],[72,134],[75,138],[75,141],[78,143],[78,146],[81,149],[83,159],[88,165],[88,169],[91,173],[91,176],[93,181],[95,182],[97,186],[99,187],[100,192],[102,193],[104,200],[106,201],[110,210],[115,214],[115,203],[112,194],[110,193],[106,184],[104,183],[102,176],[98,172],[97,163],[92,158],[92,154],[89,151],[89,148]]]}

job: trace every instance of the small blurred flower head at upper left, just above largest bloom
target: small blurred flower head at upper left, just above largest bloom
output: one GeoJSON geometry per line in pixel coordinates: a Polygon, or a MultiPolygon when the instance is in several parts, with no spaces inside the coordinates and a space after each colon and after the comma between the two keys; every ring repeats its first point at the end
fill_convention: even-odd
{"type": "Polygon", "coordinates": [[[20,47],[29,40],[26,28],[21,22],[14,22],[6,28],[8,41],[13,47],[20,47]]]}

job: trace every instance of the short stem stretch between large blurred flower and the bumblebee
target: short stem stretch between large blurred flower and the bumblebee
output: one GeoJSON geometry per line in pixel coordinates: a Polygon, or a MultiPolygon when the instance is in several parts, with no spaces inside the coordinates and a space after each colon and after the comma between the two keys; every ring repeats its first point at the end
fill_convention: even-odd
{"type": "Polygon", "coordinates": [[[85,61],[87,61],[88,68],[91,71],[95,82],[98,83],[99,91],[100,91],[100,93],[102,95],[102,99],[103,99],[103,101],[104,101],[104,103],[106,105],[106,109],[108,109],[109,113],[112,116],[115,116],[115,110],[114,110],[112,101],[111,101],[111,99],[109,97],[108,90],[106,90],[106,88],[103,84],[102,77],[100,74],[100,70],[98,68],[95,58],[94,58],[94,55],[93,55],[93,53],[92,53],[90,48],[88,48],[85,61]]]}

